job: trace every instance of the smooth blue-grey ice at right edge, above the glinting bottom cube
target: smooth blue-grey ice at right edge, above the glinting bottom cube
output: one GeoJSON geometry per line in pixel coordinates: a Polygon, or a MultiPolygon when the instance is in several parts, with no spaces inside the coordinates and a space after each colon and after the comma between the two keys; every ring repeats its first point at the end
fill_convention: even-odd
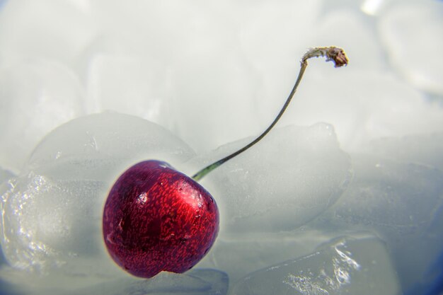
{"type": "Polygon", "coordinates": [[[355,178],[313,228],[367,229],[386,241],[403,288],[428,280],[443,247],[443,173],[436,168],[352,155],[355,178]]]}

